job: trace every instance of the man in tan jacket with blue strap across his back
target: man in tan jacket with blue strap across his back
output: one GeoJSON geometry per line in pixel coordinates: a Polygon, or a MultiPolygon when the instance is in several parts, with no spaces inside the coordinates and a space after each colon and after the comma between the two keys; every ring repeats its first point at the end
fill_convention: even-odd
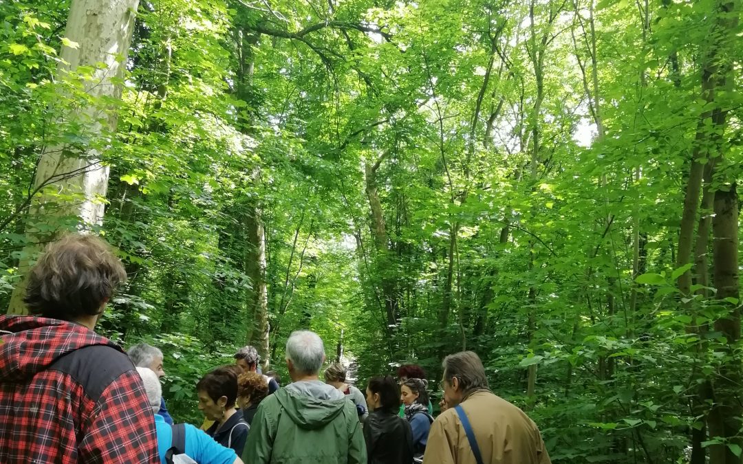
{"type": "Polygon", "coordinates": [[[449,409],[431,425],[424,464],[551,464],[536,424],[488,390],[475,353],[447,356],[443,366],[441,388],[449,409]],[[475,446],[470,445],[464,422],[475,446]]]}

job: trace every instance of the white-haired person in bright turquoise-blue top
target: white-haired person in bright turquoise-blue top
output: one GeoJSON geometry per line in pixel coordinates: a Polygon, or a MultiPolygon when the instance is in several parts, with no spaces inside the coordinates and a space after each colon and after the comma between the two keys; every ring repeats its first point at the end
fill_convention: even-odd
{"type": "MultiPolygon", "coordinates": [[[[175,443],[173,442],[173,425],[167,424],[163,416],[157,412],[160,411],[160,399],[163,396],[160,380],[158,375],[148,367],[137,367],[137,372],[142,377],[152,411],[155,411],[160,462],[165,464],[165,454],[172,446],[175,446],[175,443]]],[[[184,449],[178,450],[178,454],[186,454],[198,464],[243,464],[234,450],[215,442],[204,431],[191,424],[181,424],[181,426],[184,428],[184,449]]]]}

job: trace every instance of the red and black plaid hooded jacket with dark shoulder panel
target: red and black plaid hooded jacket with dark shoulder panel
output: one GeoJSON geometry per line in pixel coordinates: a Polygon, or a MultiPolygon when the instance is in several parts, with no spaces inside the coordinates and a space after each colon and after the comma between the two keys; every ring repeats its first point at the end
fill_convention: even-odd
{"type": "Polygon", "coordinates": [[[82,325],[0,316],[0,463],[159,463],[125,353],[82,325]]]}

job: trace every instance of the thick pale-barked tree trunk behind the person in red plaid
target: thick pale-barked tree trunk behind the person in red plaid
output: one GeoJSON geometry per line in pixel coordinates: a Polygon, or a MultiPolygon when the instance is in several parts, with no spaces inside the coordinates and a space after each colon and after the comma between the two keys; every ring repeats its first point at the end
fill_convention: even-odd
{"type": "MultiPolygon", "coordinates": [[[[116,79],[123,77],[126,55],[132,41],[134,17],[139,0],[72,0],[65,37],[77,42],[77,48],[62,47],[57,79],[69,79],[68,71],[80,66],[103,67],[93,78],[81,82],[93,98],[120,98],[116,79]],[[123,59],[120,59],[123,57],[123,59]]],[[[91,138],[108,137],[116,128],[116,112],[108,105],[91,103],[82,109],[68,109],[61,122],[77,123],[88,128],[91,138]]],[[[97,148],[80,150],[73,146],[47,146],[42,151],[26,226],[28,245],[19,263],[19,274],[25,275],[42,250],[42,243],[62,229],[65,219],[81,230],[103,221],[103,201],[108,184],[108,166],[101,163],[97,148]],[[46,230],[51,226],[51,232],[46,230]],[[42,232],[44,231],[44,232],[42,232]]],[[[17,285],[10,298],[9,313],[26,313],[22,298],[25,281],[17,285]]]]}

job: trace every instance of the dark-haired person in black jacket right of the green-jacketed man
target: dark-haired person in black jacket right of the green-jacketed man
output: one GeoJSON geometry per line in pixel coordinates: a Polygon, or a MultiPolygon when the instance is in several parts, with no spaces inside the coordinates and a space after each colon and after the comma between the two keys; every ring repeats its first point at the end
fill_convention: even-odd
{"type": "Polygon", "coordinates": [[[369,464],[411,464],[412,431],[398,416],[400,390],[391,376],[374,377],[366,387],[371,413],[364,423],[364,440],[369,464]]]}

